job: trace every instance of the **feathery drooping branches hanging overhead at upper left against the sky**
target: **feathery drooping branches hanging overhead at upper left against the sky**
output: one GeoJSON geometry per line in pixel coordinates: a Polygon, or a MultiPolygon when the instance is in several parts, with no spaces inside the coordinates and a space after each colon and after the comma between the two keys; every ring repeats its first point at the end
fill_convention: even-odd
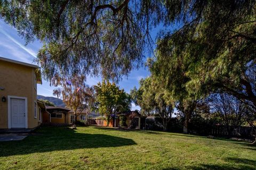
{"type": "Polygon", "coordinates": [[[155,13],[156,4],[161,5],[129,0],[1,0],[0,17],[26,43],[35,37],[43,42],[38,61],[47,80],[55,80],[60,72],[119,79],[141,64],[146,40],[151,41],[148,14],[155,13]]]}

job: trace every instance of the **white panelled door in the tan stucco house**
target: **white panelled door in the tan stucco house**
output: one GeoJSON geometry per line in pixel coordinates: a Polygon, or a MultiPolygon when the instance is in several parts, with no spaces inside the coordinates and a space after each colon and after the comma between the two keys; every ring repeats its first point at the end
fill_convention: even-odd
{"type": "Polygon", "coordinates": [[[25,99],[11,98],[11,128],[26,128],[25,99]]]}

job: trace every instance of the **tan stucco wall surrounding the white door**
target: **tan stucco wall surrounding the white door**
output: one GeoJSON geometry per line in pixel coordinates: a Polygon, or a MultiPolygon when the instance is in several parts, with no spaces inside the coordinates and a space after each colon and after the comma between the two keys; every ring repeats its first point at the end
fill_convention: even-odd
{"type": "MultiPolygon", "coordinates": [[[[8,128],[8,96],[26,97],[28,105],[28,128],[35,128],[39,125],[38,111],[37,118],[34,118],[34,106],[37,101],[37,92],[34,88],[35,68],[25,65],[0,61],[0,129],[8,128]],[[2,97],[6,102],[2,102],[2,97]]],[[[37,109],[38,110],[38,109],[37,109]]]]}

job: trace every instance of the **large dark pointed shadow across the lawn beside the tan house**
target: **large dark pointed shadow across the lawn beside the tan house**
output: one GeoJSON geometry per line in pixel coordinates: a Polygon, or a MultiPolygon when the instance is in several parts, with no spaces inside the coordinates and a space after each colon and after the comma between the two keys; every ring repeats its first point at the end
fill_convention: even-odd
{"type": "Polygon", "coordinates": [[[106,134],[77,133],[67,128],[42,128],[22,141],[0,142],[0,157],[36,152],[137,145],[133,140],[106,134]]]}

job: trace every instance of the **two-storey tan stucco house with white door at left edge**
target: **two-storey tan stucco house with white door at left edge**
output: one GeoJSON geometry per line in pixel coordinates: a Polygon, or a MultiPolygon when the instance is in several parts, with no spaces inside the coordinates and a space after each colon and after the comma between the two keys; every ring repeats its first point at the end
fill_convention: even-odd
{"type": "Polygon", "coordinates": [[[42,123],[44,104],[37,100],[42,84],[37,65],[0,57],[0,129],[34,129],[42,123]]]}

